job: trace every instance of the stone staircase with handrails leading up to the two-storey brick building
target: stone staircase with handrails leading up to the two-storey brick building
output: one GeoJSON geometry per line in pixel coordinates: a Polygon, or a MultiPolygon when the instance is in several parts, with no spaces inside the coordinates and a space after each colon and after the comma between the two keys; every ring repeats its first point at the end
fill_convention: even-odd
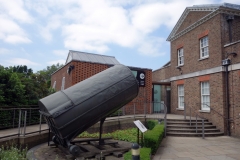
{"type": "MultiPolygon", "coordinates": [[[[204,120],[204,136],[214,137],[223,136],[216,126],[212,125],[208,120],[204,120]]],[[[197,133],[196,133],[196,120],[184,120],[184,119],[168,119],[167,120],[167,136],[178,137],[202,137],[202,120],[197,120],[197,133]]]]}

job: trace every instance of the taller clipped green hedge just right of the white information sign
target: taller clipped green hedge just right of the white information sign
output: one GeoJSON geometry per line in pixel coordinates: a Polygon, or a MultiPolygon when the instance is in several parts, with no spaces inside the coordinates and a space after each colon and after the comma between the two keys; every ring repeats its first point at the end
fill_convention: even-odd
{"type": "Polygon", "coordinates": [[[158,124],[152,130],[144,133],[144,147],[152,149],[152,154],[156,153],[159,144],[161,143],[164,135],[164,125],[158,124]]]}

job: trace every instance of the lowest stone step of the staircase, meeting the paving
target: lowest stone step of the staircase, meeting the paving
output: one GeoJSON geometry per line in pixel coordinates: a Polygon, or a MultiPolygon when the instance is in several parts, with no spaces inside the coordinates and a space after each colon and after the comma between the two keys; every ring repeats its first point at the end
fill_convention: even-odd
{"type": "MultiPolygon", "coordinates": [[[[204,133],[204,137],[223,136],[223,132],[204,133]]],[[[202,137],[202,133],[186,133],[186,132],[167,132],[167,136],[177,137],[202,137]]]]}

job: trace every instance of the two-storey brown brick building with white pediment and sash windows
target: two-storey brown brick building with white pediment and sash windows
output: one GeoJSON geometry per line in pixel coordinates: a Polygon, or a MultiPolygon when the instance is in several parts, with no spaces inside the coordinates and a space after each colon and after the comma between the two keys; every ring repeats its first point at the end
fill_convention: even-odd
{"type": "Polygon", "coordinates": [[[167,41],[170,62],[153,71],[153,81],[171,83],[171,113],[191,108],[240,136],[240,5],[187,7],[167,41]]]}

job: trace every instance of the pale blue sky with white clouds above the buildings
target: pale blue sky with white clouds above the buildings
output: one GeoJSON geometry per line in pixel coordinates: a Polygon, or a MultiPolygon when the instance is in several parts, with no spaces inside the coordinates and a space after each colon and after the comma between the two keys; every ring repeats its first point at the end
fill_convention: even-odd
{"type": "MultiPolygon", "coordinates": [[[[156,70],[186,7],[222,0],[0,0],[0,65],[34,72],[65,64],[69,50],[156,70]]],[[[239,0],[227,3],[240,4],[239,0]]]]}

